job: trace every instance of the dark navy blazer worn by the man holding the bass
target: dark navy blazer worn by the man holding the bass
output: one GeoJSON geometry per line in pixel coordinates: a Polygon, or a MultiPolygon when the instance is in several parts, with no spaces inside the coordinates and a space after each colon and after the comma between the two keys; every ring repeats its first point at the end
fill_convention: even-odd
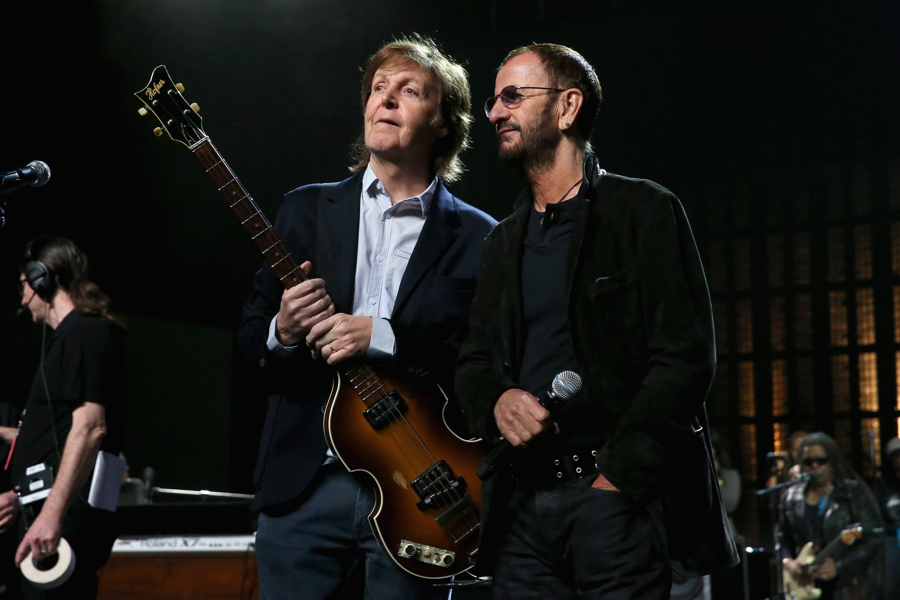
{"type": "MultiPolygon", "coordinates": [[[[312,262],[338,312],[353,313],[356,249],[363,174],[339,184],[314,184],[284,196],[275,230],[298,263],[312,262]]],[[[496,224],[438,183],[419,241],[403,273],[391,327],[397,352],[386,369],[453,389],[456,354],[466,333],[482,240],[496,224]]],[[[313,361],[305,347],[289,358],[266,348],[269,323],[284,287],[267,265],[257,273],[244,307],[238,340],[244,353],[266,369],[269,397],[259,443],[254,506],[299,496],[324,459],[322,413],[333,370],[313,361]]]]}

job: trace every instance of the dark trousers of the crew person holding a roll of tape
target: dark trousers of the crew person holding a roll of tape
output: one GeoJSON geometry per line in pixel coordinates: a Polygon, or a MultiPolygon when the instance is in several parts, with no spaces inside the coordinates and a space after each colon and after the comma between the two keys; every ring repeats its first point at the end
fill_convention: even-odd
{"type": "MultiPolygon", "coordinates": [[[[40,504],[32,510],[37,515],[40,504]]],[[[27,519],[31,524],[31,516],[27,519]]],[[[19,519],[19,540],[25,535],[25,521],[19,519]]],[[[66,583],[53,589],[34,587],[22,576],[22,595],[26,600],[94,600],[97,597],[97,571],[110,558],[117,534],[115,513],[90,506],[72,508],[62,520],[62,536],[75,553],[75,572],[66,583]]]]}

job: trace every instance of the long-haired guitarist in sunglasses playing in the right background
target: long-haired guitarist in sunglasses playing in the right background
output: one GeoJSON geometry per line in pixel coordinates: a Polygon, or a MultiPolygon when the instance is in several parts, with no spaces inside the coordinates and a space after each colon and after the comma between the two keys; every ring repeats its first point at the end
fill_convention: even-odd
{"type": "Polygon", "coordinates": [[[872,493],[844,460],[837,443],[821,432],[807,435],[799,446],[803,472],[815,473],[808,483],[788,488],[781,497],[776,551],[784,568],[800,584],[822,588],[823,600],[865,597],[869,567],[878,560],[880,516],[872,493]],[[794,557],[806,542],[823,548],[851,524],[863,527],[862,539],[841,544],[833,557],[804,572],[794,557]]]}

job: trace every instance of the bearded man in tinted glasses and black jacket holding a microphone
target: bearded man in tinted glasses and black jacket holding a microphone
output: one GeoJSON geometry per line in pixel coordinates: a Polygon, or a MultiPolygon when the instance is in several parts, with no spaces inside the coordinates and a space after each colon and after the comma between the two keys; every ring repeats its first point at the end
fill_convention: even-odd
{"type": "Polygon", "coordinates": [[[511,457],[482,488],[495,598],[668,598],[671,569],[737,562],[704,399],[716,368],[688,219],[591,153],[600,85],[572,49],[515,49],[485,112],[528,186],[485,240],[456,392],[511,457]],[[581,393],[554,412],[554,376],[581,393]]]}

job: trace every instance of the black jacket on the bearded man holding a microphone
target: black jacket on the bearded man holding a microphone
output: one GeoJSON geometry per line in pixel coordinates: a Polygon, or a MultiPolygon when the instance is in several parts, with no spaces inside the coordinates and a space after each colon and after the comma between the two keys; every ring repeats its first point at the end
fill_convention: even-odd
{"type": "MultiPolygon", "coordinates": [[[[601,472],[645,502],[673,566],[689,575],[737,562],[726,524],[704,399],[716,370],[707,282],[688,219],[668,190],[610,175],[585,157],[590,186],[566,269],[570,332],[590,399],[605,418],[601,472]]],[[[474,434],[496,434],[494,403],[517,386],[520,271],[531,194],[485,240],[457,362],[456,393],[474,434]]],[[[504,479],[482,489],[482,551],[491,568],[504,479]]]]}

